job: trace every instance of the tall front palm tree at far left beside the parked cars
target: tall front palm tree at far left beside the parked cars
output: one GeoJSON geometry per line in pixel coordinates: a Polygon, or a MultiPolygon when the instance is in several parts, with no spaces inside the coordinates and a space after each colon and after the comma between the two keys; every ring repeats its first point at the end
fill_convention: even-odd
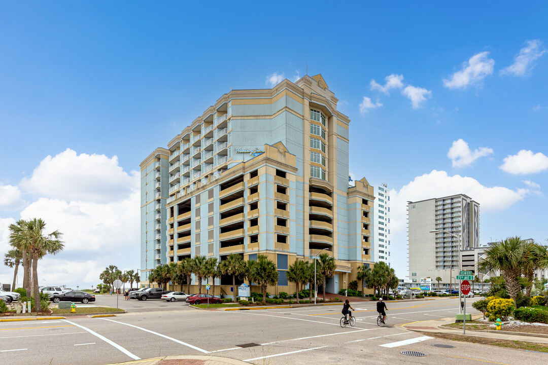
{"type": "Polygon", "coordinates": [[[10,241],[17,242],[17,245],[24,247],[30,254],[32,260],[33,297],[35,298],[36,311],[41,311],[40,292],[38,290],[38,260],[47,253],[56,254],[65,246],[60,240],[62,234],[55,230],[50,234],[43,233],[45,222],[39,218],[30,221],[22,221],[21,225],[10,224],[10,241]]]}

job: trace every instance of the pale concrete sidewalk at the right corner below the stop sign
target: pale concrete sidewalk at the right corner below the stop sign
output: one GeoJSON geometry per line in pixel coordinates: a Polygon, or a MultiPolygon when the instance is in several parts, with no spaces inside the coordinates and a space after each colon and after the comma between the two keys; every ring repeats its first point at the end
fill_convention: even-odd
{"type": "MultiPolygon", "coordinates": [[[[472,316],[472,319],[481,318],[482,315],[472,316]]],[[[435,333],[447,333],[454,335],[463,335],[462,329],[452,329],[447,327],[441,327],[442,325],[448,325],[449,323],[455,323],[455,320],[451,318],[443,318],[441,320],[427,320],[408,323],[402,327],[414,332],[435,332],[435,333]]],[[[539,344],[548,344],[548,337],[536,337],[534,333],[520,333],[510,331],[469,331],[466,330],[465,336],[492,338],[499,340],[511,340],[511,341],[523,341],[523,342],[535,342],[539,344]]]]}

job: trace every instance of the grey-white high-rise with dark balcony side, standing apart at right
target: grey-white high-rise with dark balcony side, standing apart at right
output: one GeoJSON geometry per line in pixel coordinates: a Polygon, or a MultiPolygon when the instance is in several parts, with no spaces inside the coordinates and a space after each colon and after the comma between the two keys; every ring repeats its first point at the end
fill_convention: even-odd
{"type": "Polygon", "coordinates": [[[454,283],[461,251],[479,246],[479,204],[464,194],[413,201],[407,205],[407,221],[409,278],[420,283],[439,276],[443,283],[454,283]]]}

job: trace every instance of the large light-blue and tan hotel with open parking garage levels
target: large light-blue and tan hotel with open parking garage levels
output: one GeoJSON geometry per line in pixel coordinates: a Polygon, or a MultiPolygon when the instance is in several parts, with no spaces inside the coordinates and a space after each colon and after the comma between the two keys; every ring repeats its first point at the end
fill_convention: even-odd
{"type": "MultiPolygon", "coordinates": [[[[337,102],[319,74],[296,83],[283,80],[272,89],[232,90],[167,150],[143,161],[147,192],[156,191],[157,164],[169,162],[165,176],[164,167],[159,170],[160,181],[169,182],[165,190],[160,184],[159,196],[166,198],[162,215],[157,193],[147,195],[141,211],[144,222],[155,222],[143,223],[147,230],[156,229],[156,217],[167,228],[165,251],[154,251],[153,261],[158,263],[157,253],[164,256],[160,263],[196,256],[224,260],[231,253],[254,260],[265,254],[278,269],[278,285],[268,289],[276,294],[294,292],[286,271],[295,260],[327,253],[336,262],[327,291],[346,288],[357,267],[372,262],[374,189],[365,178],[349,187],[350,120],[337,102]]],[[[149,240],[148,232],[142,240],[149,240]]],[[[147,252],[144,257],[146,265],[147,252]]],[[[142,268],[141,284],[147,285],[146,271],[153,265],[142,268]]],[[[215,284],[215,294],[230,294],[231,277],[215,284]]]]}

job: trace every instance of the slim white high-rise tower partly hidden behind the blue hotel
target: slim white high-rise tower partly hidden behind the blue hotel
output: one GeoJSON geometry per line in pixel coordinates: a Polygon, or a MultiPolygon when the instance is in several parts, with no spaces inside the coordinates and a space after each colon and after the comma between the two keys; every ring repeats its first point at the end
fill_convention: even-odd
{"type": "Polygon", "coordinates": [[[387,184],[375,187],[374,261],[390,266],[390,190],[387,184]]]}

